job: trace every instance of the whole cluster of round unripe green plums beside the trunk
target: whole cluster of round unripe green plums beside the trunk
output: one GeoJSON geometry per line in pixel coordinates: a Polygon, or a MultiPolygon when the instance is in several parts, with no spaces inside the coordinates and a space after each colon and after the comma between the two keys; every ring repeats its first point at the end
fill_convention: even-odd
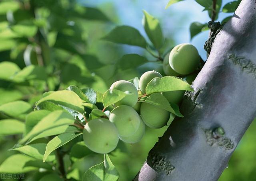
{"type": "MultiPolygon", "coordinates": [[[[197,49],[190,44],[180,44],[174,47],[164,58],[163,69],[166,75],[181,76],[194,72],[199,64],[200,57],[197,49]]],[[[119,139],[126,143],[139,142],[145,134],[146,126],[162,128],[167,125],[170,112],[147,102],[138,102],[138,98],[146,94],[146,86],[155,77],[162,77],[156,71],[145,72],[139,80],[139,90],[129,81],[116,81],[110,90],[131,92],[114,104],[109,119],[96,118],[90,120],[84,127],[84,142],[96,153],[113,151],[119,139]]],[[[195,76],[188,75],[188,83],[195,76]]],[[[179,104],[184,91],[162,92],[169,102],[179,104]]]]}

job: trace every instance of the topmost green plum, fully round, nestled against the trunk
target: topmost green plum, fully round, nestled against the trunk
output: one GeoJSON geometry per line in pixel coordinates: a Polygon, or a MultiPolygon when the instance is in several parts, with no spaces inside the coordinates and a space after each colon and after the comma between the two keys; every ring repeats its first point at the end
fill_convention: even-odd
{"type": "Polygon", "coordinates": [[[169,55],[169,64],[174,71],[181,75],[194,72],[200,62],[196,47],[189,43],[176,45],[169,55]]]}

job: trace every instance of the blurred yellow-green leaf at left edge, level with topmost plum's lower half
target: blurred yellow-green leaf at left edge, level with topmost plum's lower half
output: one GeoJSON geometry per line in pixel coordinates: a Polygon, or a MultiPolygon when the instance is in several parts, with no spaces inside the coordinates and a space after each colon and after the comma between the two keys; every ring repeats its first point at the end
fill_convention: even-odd
{"type": "Polygon", "coordinates": [[[9,80],[18,71],[20,71],[20,68],[15,63],[8,61],[0,63],[0,79],[9,80]]]}

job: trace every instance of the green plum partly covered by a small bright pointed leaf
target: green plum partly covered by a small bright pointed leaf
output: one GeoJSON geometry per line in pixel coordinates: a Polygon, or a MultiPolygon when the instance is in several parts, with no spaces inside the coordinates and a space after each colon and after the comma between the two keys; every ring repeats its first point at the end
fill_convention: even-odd
{"type": "Polygon", "coordinates": [[[116,89],[122,92],[128,91],[132,93],[131,95],[127,95],[116,102],[115,106],[127,105],[133,107],[138,101],[138,90],[135,85],[128,81],[116,81],[111,85],[110,89],[116,89]]]}

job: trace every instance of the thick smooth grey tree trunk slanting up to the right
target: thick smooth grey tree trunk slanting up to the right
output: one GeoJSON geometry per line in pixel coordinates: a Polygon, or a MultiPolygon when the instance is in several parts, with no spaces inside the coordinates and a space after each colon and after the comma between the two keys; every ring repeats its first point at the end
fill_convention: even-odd
{"type": "Polygon", "coordinates": [[[218,180],[256,117],[256,0],[242,0],[192,87],[184,118],[175,118],[135,180],[218,180]]]}

